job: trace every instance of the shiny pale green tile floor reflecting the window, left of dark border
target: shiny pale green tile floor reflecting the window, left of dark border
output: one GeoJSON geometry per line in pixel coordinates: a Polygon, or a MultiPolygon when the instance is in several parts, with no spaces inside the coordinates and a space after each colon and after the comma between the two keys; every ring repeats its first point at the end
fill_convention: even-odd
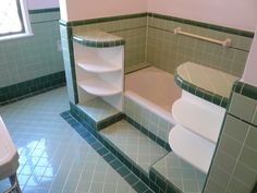
{"type": "MultiPolygon", "coordinates": [[[[23,193],[132,193],[130,184],[66,123],[65,87],[0,107],[17,146],[23,193]]],[[[0,181],[0,192],[9,181],[0,181]]]]}

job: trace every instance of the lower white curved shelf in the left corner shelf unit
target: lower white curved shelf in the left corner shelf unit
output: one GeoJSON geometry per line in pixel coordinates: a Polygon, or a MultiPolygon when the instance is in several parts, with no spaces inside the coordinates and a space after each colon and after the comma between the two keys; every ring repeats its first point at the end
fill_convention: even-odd
{"type": "Polygon", "coordinates": [[[121,89],[99,79],[89,79],[78,82],[78,86],[85,92],[96,96],[111,96],[122,92],[121,89]]]}

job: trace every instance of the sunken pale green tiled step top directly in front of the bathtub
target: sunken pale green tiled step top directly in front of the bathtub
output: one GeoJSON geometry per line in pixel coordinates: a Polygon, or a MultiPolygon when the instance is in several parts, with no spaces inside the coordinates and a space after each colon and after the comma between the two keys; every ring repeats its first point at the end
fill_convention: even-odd
{"type": "Polygon", "coordinates": [[[168,154],[125,120],[101,130],[100,133],[147,174],[150,166],[168,154]]]}

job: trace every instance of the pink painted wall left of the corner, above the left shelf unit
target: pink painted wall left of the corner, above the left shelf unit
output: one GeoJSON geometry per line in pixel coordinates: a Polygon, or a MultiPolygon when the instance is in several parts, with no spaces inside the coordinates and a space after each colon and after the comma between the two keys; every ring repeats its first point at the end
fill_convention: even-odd
{"type": "Polygon", "coordinates": [[[62,20],[76,21],[146,12],[147,0],[60,0],[60,9],[62,20]]]}

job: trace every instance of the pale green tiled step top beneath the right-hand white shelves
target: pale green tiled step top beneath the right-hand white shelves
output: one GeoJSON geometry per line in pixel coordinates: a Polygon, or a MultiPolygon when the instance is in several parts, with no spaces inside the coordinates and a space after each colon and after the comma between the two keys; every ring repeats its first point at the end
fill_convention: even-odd
{"type": "MultiPolygon", "coordinates": [[[[154,178],[169,181],[176,190],[183,193],[201,193],[206,174],[192,167],[172,152],[157,161],[151,172],[154,178]]],[[[156,179],[154,179],[156,181],[156,179]]]]}

